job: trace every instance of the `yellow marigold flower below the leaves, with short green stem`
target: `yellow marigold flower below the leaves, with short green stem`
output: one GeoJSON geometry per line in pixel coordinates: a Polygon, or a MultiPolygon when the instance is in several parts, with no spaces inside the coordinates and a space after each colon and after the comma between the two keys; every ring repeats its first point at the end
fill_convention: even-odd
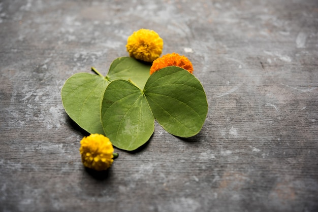
{"type": "Polygon", "coordinates": [[[98,171],[108,169],[114,161],[113,145],[108,137],[101,134],[83,137],[79,151],[83,165],[98,171]]]}

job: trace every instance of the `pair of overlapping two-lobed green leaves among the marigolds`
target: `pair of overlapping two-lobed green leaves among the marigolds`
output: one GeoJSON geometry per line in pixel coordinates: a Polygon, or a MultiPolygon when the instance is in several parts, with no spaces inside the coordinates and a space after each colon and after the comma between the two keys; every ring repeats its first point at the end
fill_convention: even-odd
{"type": "Polygon", "coordinates": [[[131,57],[115,59],[106,77],[78,73],[61,90],[66,113],[84,130],[108,136],[123,150],[149,140],[156,120],[179,137],[196,135],[208,104],[200,81],[168,66],[149,75],[150,65],[131,57]]]}

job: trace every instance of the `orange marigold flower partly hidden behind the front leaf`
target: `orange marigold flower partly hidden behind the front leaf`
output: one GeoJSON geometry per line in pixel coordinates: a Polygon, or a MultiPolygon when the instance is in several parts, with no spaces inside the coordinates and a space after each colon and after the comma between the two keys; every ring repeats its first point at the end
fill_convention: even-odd
{"type": "Polygon", "coordinates": [[[155,59],[150,67],[150,75],[157,70],[160,70],[167,66],[178,66],[186,69],[189,73],[193,73],[193,65],[190,60],[185,56],[180,56],[177,53],[166,54],[158,59],[155,59]]]}

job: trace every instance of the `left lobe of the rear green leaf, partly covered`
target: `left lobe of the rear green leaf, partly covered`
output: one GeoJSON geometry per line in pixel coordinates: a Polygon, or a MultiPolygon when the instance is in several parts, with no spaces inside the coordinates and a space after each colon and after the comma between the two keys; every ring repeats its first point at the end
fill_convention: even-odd
{"type": "Polygon", "coordinates": [[[78,73],[64,84],[61,96],[66,113],[89,133],[104,134],[101,100],[109,81],[88,73],[78,73]]]}

